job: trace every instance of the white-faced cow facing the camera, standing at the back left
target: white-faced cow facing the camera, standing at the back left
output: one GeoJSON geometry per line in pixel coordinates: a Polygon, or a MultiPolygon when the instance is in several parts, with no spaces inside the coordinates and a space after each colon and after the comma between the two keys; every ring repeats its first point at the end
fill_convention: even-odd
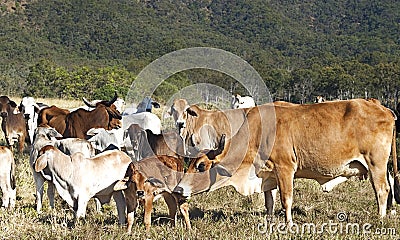
{"type": "Polygon", "coordinates": [[[19,104],[21,112],[24,113],[25,119],[27,119],[27,128],[29,139],[33,143],[33,135],[37,127],[38,113],[42,108],[48,107],[43,103],[36,103],[33,97],[23,97],[19,104]]]}

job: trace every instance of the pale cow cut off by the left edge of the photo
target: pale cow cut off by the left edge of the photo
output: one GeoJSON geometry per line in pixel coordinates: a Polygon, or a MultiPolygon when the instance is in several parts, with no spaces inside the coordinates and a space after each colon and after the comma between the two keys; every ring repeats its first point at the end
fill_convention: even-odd
{"type": "Polygon", "coordinates": [[[15,162],[10,149],[0,146],[0,188],[3,192],[1,207],[14,208],[16,199],[15,162]]]}

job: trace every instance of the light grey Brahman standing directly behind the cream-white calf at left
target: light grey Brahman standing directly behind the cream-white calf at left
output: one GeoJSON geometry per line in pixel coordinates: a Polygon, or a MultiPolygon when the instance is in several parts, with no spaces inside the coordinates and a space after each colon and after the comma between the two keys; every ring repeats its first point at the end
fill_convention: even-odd
{"type": "MultiPolygon", "coordinates": [[[[32,144],[29,164],[32,167],[33,179],[36,186],[36,211],[41,212],[42,209],[42,199],[43,199],[43,187],[46,179],[42,174],[37,173],[34,169],[36,159],[39,155],[40,149],[44,146],[52,145],[59,148],[65,154],[71,155],[76,152],[81,152],[85,157],[89,158],[94,156],[95,152],[92,145],[80,138],[68,138],[57,140],[57,138],[62,137],[54,128],[51,127],[38,127],[35,130],[34,141],[32,144]]],[[[54,208],[54,185],[49,182],[47,187],[47,196],[49,198],[50,207],[54,208]]],[[[97,204],[97,210],[100,209],[99,204],[97,204]]]]}

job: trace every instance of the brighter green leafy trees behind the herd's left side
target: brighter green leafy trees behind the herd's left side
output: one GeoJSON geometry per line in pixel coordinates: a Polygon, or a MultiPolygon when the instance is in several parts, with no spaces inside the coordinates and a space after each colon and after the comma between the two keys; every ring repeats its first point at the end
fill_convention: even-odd
{"type": "Polygon", "coordinates": [[[24,95],[43,98],[109,99],[117,92],[125,96],[134,76],[121,67],[86,66],[67,70],[53,62],[42,60],[30,68],[29,86],[24,95]]]}

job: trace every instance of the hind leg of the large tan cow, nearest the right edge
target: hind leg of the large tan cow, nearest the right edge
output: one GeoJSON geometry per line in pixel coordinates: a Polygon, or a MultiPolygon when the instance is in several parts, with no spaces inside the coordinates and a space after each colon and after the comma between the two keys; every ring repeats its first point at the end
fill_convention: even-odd
{"type": "Polygon", "coordinates": [[[370,164],[369,166],[371,183],[378,203],[378,213],[381,217],[386,216],[387,198],[390,191],[386,178],[386,168],[386,164],[370,164]]]}

